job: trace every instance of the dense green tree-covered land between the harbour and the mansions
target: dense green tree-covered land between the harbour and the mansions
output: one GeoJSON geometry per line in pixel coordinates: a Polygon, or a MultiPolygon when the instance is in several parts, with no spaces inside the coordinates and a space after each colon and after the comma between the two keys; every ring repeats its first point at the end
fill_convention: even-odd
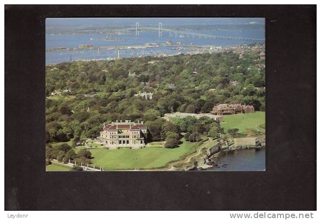
{"type": "Polygon", "coordinates": [[[220,126],[208,118],[198,122],[190,118],[187,122],[166,122],[161,117],[177,111],[208,113],[220,103],[250,104],[256,111],[265,111],[265,68],[259,70],[257,64],[264,60],[259,60],[258,54],[250,52],[244,54],[243,59],[239,59],[239,53],[223,52],[48,65],[47,143],[94,139],[99,136],[104,122],[116,120],[144,121],[149,129],[149,140],[166,140],[167,137],[179,140],[181,137],[177,135],[186,132],[191,136],[186,136],[189,138],[186,140],[195,141],[199,137],[193,134],[195,131],[215,137],[220,126]],[[158,61],[149,62],[155,60],[158,61]],[[128,77],[129,72],[140,76],[128,77]],[[169,88],[168,83],[175,84],[176,88],[169,88]],[[70,92],[50,95],[64,89],[70,92]],[[134,97],[143,91],[152,92],[153,99],[134,97]]]}

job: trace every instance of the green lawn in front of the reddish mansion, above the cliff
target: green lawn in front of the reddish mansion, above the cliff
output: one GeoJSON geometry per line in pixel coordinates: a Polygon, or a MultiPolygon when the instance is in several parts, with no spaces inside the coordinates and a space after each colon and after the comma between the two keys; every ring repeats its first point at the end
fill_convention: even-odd
{"type": "Polygon", "coordinates": [[[259,129],[260,132],[265,133],[265,129],[259,125],[265,123],[265,112],[254,112],[248,114],[236,114],[223,116],[224,122],[221,127],[227,132],[230,128],[239,128],[239,133],[247,133],[246,129],[259,129]]]}

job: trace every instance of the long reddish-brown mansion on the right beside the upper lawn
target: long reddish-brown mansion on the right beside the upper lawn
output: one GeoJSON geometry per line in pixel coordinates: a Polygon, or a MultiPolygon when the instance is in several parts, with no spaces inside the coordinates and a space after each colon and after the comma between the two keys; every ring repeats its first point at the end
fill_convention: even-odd
{"type": "Polygon", "coordinates": [[[241,105],[241,104],[219,104],[214,106],[211,111],[214,115],[235,115],[239,113],[252,113],[254,112],[253,105],[241,105]]]}

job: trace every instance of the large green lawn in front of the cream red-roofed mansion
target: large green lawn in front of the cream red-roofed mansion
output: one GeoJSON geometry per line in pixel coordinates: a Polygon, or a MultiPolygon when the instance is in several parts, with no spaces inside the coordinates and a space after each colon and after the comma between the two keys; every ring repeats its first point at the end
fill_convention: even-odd
{"type": "Polygon", "coordinates": [[[120,148],[119,150],[92,149],[93,164],[104,170],[126,170],[165,166],[196,151],[197,143],[183,140],[178,148],[145,147],[143,149],[120,148]]]}

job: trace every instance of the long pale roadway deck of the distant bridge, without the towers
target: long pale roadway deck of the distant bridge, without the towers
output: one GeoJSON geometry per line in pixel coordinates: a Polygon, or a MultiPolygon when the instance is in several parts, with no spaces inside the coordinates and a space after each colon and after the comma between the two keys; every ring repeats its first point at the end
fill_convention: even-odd
{"type": "MultiPolygon", "coordinates": [[[[120,29],[120,30],[112,30],[112,32],[126,32],[126,31],[132,31],[136,30],[136,28],[128,28],[128,29],[120,29]]],[[[171,30],[171,29],[165,29],[165,28],[156,28],[156,27],[139,27],[137,28],[138,31],[141,30],[153,30],[153,31],[164,31],[164,32],[172,32],[172,33],[178,33],[178,34],[184,34],[187,36],[199,36],[209,39],[223,39],[223,40],[255,40],[255,41],[265,41],[264,39],[254,39],[254,38],[236,38],[236,37],[222,37],[222,36],[216,36],[216,35],[209,35],[209,34],[200,34],[200,33],[193,33],[193,32],[187,32],[187,31],[178,31],[178,30],[171,30]]]]}

